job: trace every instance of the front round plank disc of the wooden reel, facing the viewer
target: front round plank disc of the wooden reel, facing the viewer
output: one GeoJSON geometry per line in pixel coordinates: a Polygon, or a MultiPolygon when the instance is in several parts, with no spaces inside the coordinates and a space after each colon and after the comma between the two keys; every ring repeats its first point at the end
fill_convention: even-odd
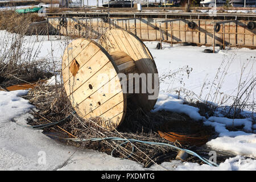
{"type": "Polygon", "coordinates": [[[76,39],[65,49],[62,63],[64,88],[77,114],[101,117],[107,129],[117,127],[125,117],[126,94],[109,53],[92,40],[76,39]]]}

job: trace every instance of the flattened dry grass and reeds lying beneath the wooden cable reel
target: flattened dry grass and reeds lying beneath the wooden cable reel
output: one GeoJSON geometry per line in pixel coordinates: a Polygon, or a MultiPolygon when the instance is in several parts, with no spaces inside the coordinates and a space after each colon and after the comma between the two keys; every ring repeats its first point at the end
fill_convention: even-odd
{"type": "MultiPolygon", "coordinates": [[[[60,121],[71,115],[71,118],[67,122],[61,123],[59,126],[71,133],[77,138],[105,138],[105,137],[120,137],[120,138],[132,138],[138,140],[145,140],[151,142],[163,142],[176,145],[178,147],[190,148],[195,150],[207,150],[200,147],[183,145],[179,142],[169,142],[166,139],[160,137],[157,130],[164,123],[171,122],[173,131],[186,133],[189,131],[189,125],[195,125],[195,121],[192,121],[187,115],[171,113],[167,111],[160,111],[158,113],[144,113],[142,110],[133,110],[132,107],[127,106],[127,113],[125,121],[116,130],[108,131],[101,127],[99,123],[102,122],[101,118],[95,117],[90,119],[82,119],[77,114],[71,114],[74,110],[71,106],[62,85],[46,86],[39,85],[34,90],[31,90],[24,98],[30,100],[31,104],[36,106],[38,114],[34,114],[37,118],[36,122],[31,122],[31,125],[38,125],[38,123],[47,123],[49,121],[60,121]],[[42,116],[42,117],[41,117],[42,116]],[[183,121],[183,126],[180,126],[180,122],[183,121]],[[190,122],[190,124],[189,124],[190,122]],[[192,148],[191,148],[192,147],[192,148]]],[[[202,123],[201,123],[202,124],[202,123]]],[[[43,131],[44,134],[52,134],[61,136],[64,138],[71,137],[67,133],[60,130],[57,126],[52,128],[46,128],[43,131]]],[[[56,139],[57,137],[55,137],[56,139]]],[[[63,142],[63,140],[60,139],[63,142]]],[[[66,141],[64,141],[66,142],[66,141]]],[[[112,154],[118,158],[126,158],[131,154],[132,147],[135,147],[133,154],[130,156],[131,160],[135,160],[144,165],[144,167],[150,167],[155,163],[162,163],[164,161],[174,160],[177,155],[177,150],[171,147],[151,146],[149,144],[142,143],[126,143],[126,145],[120,146],[122,142],[113,140],[102,140],[98,142],[67,142],[81,148],[90,148],[106,154],[112,154]]],[[[203,153],[202,153],[203,154],[203,153]]],[[[209,156],[205,156],[206,158],[209,156]]],[[[200,162],[197,158],[191,157],[189,162],[200,162]]]]}

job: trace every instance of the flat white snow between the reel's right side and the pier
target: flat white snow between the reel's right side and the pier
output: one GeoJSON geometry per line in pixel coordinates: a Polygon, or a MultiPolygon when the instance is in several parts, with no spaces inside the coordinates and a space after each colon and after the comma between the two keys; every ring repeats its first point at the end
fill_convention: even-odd
{"type": "MultiPolygon", "coordinates": [[[[180,44],[174,44],[174,47],[171,47],[170,44],[163,43],[163,49],[156,49],[157,42],[144,43],[154,57],[160,78],[168,75],[169,72],[176,73],[175,76],[160,81],[160,92],[174,93],[182,87],[195,93],[195,96],[191,95],[191,97],[220,103],[224,94],[236,96],[243,67],[245,70],[241,80],[245,81],[246,78],[255,76],[255,50],[247,48],[219,50],[216,47],[217,53],[213,54],[203,52],[204,49],[212,47],[181,46],[180,44]],[[216,77],[217,72],[219,72],[218,77],[216,77]],[[218,95],[214,97],[216,91],[218,95]]],[[[251,94],[249,101],[253,102],[254,96],[255,94],[251,94]]],[[[232,104],[232,101],[229,99],[226,104],[232,104]]]]}

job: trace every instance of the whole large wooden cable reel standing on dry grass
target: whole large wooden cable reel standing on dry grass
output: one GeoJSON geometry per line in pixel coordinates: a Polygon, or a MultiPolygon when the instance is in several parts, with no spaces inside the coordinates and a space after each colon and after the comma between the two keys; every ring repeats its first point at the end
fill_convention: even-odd
{"type": "MultiPolygon", "coordinates": [[[[131,32],[110,30],[98,43],[73,40],[64,51],[62,63],[64,88],[77,114],[84,119],[101,117],[100,124],[106,129],[113,130],[123,121],[127,102],[144,111],[150,111],[156,103],[158,93],[151,100],[148,96],[152,93],[126,93],[122,89],[119,73],[150,73],[159,81],[152,55],[131,32]]],[[[139,84],[147,85],[147,81],[139,84]]],[[[154,88],[154,81],[150,86],[154,88]]],[[[159,92],[159,85],[156,87],[159,92]]]]}

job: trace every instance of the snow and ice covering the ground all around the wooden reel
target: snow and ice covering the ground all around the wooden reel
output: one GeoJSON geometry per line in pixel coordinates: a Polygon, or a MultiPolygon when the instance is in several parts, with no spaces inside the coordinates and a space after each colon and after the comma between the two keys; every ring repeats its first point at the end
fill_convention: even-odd
{"type": "MultiPolygon", "coordinates": [[[[0,41],[5,40],[2,36],[6,34],[5,31],[0,32],[0,41]]],[[[38,59],[53,57],[55,61],[60,61],[66,44],[65,40],[59,40],[54,36],[52,41],[48,41],[46,36],[39,36],[39,39],[44,41],[36,43],[42,44],[38,59]],[[52,50],[53,54],[51,54],[52,50]]],[[[28,46],[36,38],[26,37],[26,40],[28,46]]],[[[209,82],[214,80],[222,60],[226,59],[224,55],[230,57],[236,53],[225,76],[225,84],[221,87],[221,92],[235,95],[242,63],[248,63],[247,68],[253,69],[253,71],[246,69],[243,78],[255,73],[255,59],[250,57],[256,56],[256,51],[243,48],[209,54],[202,52],[205,47],[180,45],[170,47],[170,44],[164,43],[164,48],[158,50],[155,49],[157,42],[145,42],[145,44],[154,56],[160,76],[170,72],[170,69],[171,72],[175,72],[187,65],[193,68],[189,77],[186,73],[179,72],[175,77],[164,79],[160,85],[159,100],[153,111],[161,109],[177,111],[186,113],[196,120],[202,119],[205,125],[213,126],[218,133],[218,137],[210,140],[207,145],[214,150],[235,154],[237,155],[235,158],[227,159],[219,167],[210,167],[207,164],[200,166],[196,163],[181,163],[174,160],[164,162],[160,166],[143,168],[141,164],[131,160],[121,160],[93,150],[77,150],[72,146],[64,146],[46,137],[41,133],[42,131],[24,127],[27,126],[26,118],[32,117],[27,111],[33,106],[19,97],[26,94],[26,91],[19,90],[0,92],[0,114],[2,115],[0,119],[0,170],[256,170],[256,160],[245,158],[245,156],[256,158],[256,134],[253,134],[256,126],[250,118],[234,121],[235,125],[243,126],[243,131],[229,131],[227,127],[232,125],[233,121],[222,118],[218,114],[208,119],[201,117],[196,107],[183,105],[184,101],[175,93],[175,90],[182,86],[200,95],[205,80],[209,82]],[[176,81],[180,78],[183,78],[181,83],[176,81]]],[[[53,79],[52,82],[54,81],[53,79]]],[[[205,98],[209,90],[206,89],[205,92],[201,93],[201,98],[205,98]]],[[[250,100],[254,101],[253,96],[250,100]]]]}

